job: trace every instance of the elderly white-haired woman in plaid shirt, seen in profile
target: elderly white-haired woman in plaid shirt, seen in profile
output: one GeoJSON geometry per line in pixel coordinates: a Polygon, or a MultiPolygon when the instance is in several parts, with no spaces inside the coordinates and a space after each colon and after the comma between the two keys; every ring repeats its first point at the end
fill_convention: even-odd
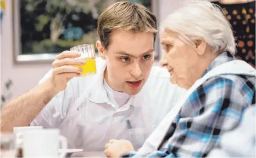
{"type": "Polygon", "coordinates": [[[129,141],[110,140],[109,157],[205,157],[255,103],[255,69],[233,56],[232,29],[218,6],[186,2],[160,26],[160,39],[161,65],[171,83],[188,91],[139,151],[129,141]]]}

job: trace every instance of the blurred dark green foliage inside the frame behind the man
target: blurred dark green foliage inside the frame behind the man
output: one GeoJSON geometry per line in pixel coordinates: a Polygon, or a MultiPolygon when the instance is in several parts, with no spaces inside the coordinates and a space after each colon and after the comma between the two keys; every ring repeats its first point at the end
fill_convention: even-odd
{"type": "MultiPolygon", "coordinates": [[[[95,44],[98,16],[119,1],[127,0],[20,0],[22,54],[59,53],[75,45],[95,44]],[[69,26],[82,30],[81,40],[65,40],[69,26]]],[[[149,7],[150,1],[133,2],[149,7]]]]}

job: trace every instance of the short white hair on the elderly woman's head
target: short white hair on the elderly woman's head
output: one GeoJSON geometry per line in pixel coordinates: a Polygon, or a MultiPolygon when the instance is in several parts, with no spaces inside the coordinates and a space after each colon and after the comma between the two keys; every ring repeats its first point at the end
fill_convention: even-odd
{"type": "Polygon", "coordinates": [[[214,52],[235,54],[236,43],[232,27],[218,5],[206,0],[189,0],[160,25],[160,37],[165,28],[177,32],[185,42],[203,39],[214,52]]]}

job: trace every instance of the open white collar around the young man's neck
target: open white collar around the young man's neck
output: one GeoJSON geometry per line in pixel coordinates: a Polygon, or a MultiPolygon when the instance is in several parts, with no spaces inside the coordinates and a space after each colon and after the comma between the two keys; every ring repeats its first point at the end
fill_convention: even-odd
{"type": "MultiPolygon", "coordinates": [[[[88,91],[88,95],[87,95],[88,100],[90,100],[91,102],[94,102],[94,103],[110,102],[107,96],[107,92],[103,85],[105,68],[106,68],[105,60],[102,60],[102,58],[100,57],[96,58],[97,73],[92,76],[92,80],[93,80],[92,84],[90,88],[86,90],[88,91]]],[[[141,107],[142,99],[146,89],[147,88],[144,85],[142,90],[137,95],[131,96],[131,98],[127,103],[129,103],[133,107],[141,107]]]]}

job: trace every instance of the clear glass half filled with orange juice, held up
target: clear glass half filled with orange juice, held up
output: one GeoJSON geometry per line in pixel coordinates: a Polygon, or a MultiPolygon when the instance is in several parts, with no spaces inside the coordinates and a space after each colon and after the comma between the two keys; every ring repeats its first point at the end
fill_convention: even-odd
{"type": "Polygon", "coordinates": [[[81,73],[81,76],[87,76],[96,74],[96,55],[93,44],[83,44],[77,45],[70,48],[71,51],[81,52],[81,56],[77,57],[78,59],[85,60],[85,65],[77,65],[76,67],[82,68],[84,71],[81,73]]]}

